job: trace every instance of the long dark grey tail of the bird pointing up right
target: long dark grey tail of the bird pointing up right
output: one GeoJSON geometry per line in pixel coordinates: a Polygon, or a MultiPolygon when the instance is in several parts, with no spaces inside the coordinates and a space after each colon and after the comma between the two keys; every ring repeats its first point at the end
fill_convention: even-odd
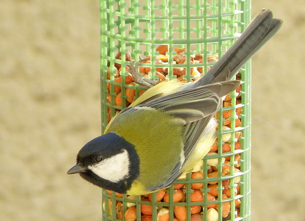
{"type": "Polygon", "coordinates": [[[252,19],[241,37],[213,65],[207,74],[194,82],[193,86],[231,80],[244,63],[274,36],[281,24],[282,20],[273,18],[269,9],[262,9],[252,19]]]}

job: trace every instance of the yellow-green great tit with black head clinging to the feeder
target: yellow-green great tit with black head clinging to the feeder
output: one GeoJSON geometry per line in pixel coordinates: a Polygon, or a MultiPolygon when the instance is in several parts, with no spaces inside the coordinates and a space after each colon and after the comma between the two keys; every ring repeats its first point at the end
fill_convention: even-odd
{"type": "MultiPolygon", "coordinates": [[[[281,27],[262,9],[213,67],[198,80],[161,82],[115,115],[89,141],[67,174],[99,187],[141,195],[168,187],[192,170],[215,141],[213,115],[241,84],[232,78],[281,27]]],[[[138,79],[141,83],[141,79],[138,79]]]]}

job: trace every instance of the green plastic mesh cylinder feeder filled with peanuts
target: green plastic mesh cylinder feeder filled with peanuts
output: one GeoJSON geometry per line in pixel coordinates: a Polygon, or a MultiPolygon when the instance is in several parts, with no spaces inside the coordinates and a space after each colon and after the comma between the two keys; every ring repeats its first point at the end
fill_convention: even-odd
{"type": "MultiPolygon", "coordinates": [[[[164,76],[167,80],[195,80],[196,73],[205,74],[233,44],[251,14],[250,0],[99,3],[102,131],[110,117],[148,89],[130,82],[130,58],[136,62],[149,60],[141,63],[140,69],[152,79],[164,76]],[[163,55],[160,45],[167,46],[163,55]],[[179,58],[185,59],[181,62],[179,58]]],[[[216,114],[217,140],[213,151],[198,164],[196,175],[200,173],[203,178],[192,179],[195,172],[186,174],[166,189],[167,200],[157,199],[157,193],[148,199],[148,195],[120,195],[103,189],[103,221],[250,220],[250,62],[237,77],[243,81],[241,90],[227,96],[216,114]],[[183,198],[174,202],[178,191],[183,192],[183,198]],[[199,201],[194,200],[198,191],[202,196],[199,201]],[[145,207],[151,211],[145,212],[145,207]],[[177,212],[181,208],[185,217],[177,212]],[[166,215],[161,216],[160,211],[166,215]]]]}

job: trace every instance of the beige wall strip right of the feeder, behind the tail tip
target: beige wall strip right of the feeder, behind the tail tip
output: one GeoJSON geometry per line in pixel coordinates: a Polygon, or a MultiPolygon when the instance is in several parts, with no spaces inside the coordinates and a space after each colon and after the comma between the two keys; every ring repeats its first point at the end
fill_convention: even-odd
{"type": "Polygon", "coordinates": [[[284,23],[252,59],[252,220],[305,221],[305,4],[264,7],[284,23]]]}

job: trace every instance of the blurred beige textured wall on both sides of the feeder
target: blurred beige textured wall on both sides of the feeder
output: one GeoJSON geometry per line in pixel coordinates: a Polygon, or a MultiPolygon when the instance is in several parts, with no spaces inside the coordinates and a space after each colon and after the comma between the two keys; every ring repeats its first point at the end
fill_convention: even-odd
{"type": "MultiPolygon", "coordinates": [[[[280,32],[253,58],[252,220],[305,220],[304,0],[253,0],[280,32]]],[[[67,176],[100,134],[98,0],[0,2],[0,220],[98,221],[67,176]]]]}

